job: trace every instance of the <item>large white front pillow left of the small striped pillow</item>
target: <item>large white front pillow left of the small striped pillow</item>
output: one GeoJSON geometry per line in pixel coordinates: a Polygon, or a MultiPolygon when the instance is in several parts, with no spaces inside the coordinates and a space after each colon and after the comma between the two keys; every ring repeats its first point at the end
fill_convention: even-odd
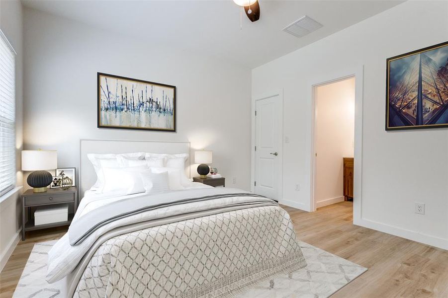
{"type": "Polygon", "coordinates": [[[103,173],[104,185],[100,192],[120,192],[126,195],[145,192],[140,173],[147,169],[148,166],[146,165],[125,168],[103,167],[101,171],[103,173]]]}

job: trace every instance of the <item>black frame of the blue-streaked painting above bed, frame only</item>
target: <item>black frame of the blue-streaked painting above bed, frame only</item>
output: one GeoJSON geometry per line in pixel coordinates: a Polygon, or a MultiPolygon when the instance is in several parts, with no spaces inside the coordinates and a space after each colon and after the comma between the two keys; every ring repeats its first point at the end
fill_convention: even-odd
{"type": "Polygon", "coordinates": [[[144,131],[157,131],[157,132],[173,132],[176,133],[176,125],[177,125],[177,105],[176,105],[176,86],[168,85],[163,83],[156,83],[152,81],[146,81],[137,78],[131,78],[126,76],[120,76],[115,74],[105,74],[105,73],[96,73],[96,119],[97,119],[97,128],[108,128],[108,129],[126,129],[126,130],[144,130],[144,131]],[[164,128],[151,128],[151,127],[136,127],[136,126],[117,126],[117,125],[104,125],[101,124],[101,77],[110,77],[114,79],[121,79],[127,81],[133,81],[138,83],[144,83],[148,85],[161,86],[165,88],[173,89],[173,128],[172,129],[164,129],[164,128]]]}

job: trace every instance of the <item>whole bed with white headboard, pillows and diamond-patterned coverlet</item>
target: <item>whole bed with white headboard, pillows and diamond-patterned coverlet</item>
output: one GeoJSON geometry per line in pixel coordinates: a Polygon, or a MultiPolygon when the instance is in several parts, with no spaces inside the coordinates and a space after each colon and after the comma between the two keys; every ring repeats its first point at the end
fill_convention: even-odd
{"type": "Polygon", "coordinates": [[[188,179],[188,142],[82,140],[80,152],[83,199],[46,277],[67,297],[227,298],[306,266],[275,201],[188,179]],[[98,171],[105,154],[120,166],[98,171]]]}

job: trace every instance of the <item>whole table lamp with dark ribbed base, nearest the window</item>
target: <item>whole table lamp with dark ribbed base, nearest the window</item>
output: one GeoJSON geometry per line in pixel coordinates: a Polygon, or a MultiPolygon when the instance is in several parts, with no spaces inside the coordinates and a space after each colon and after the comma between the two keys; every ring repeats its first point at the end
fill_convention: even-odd
{"type": "Polygon", "coordinates": [[[56,150],[23,150],[22,171],[33,171],[26,182],[33,192],[46,192],[47,186],[53,181],[53,176],[47,170],[58,167],[58,152],[56,150]]]}

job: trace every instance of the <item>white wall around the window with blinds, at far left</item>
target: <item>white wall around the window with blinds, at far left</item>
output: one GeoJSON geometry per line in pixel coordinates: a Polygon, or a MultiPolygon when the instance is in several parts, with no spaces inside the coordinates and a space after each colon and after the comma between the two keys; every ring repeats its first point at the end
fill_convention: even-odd
{"type": "MultiPolygon", "coordinates": [[[[20,151],[22,149],[22,107],[23,107],[23,38],[22,38],[22,5],[18,0],[0,1],[0,28],[14,48],[15,82],[16,82],[16,164],[17,182],[22,185],[20,171],[20,151]]],[[[8,260],[15,244],[19,240],[21,227],[20,188],[0,197],[0,271],[8,260]]]]}

